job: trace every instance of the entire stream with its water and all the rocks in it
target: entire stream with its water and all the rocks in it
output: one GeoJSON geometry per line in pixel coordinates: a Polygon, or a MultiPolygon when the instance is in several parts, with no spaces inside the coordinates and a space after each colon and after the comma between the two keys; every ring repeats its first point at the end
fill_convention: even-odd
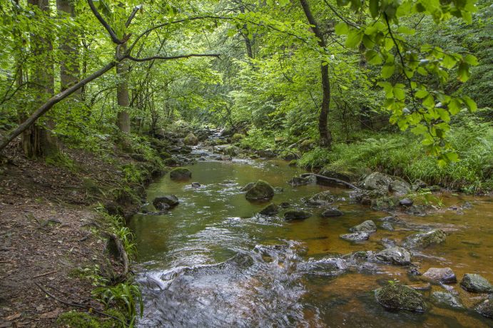
{"type": "Polygon", "coordinates": [[[129,223],[141,327],[492,325],[491,198],[415,203],[399,178],[327,185],[232,147],[190,146],[129,223]]]}

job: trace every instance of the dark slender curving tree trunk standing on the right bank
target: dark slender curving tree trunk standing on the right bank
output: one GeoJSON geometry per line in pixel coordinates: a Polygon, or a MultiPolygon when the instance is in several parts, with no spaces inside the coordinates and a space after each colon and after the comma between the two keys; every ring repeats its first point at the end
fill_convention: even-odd
{"type": "MultiPolygon", "coordinates": [[[[315,36],[319,39],[318,45],[322,48],[326,48],[325,40],[323,39],[322,32],[318,28],[317,21],[310,11],[310,6],[307,0],[300,0],[300,4],[303,7],[305,16],[308,19],[308,23],[312,25],[312,30],[315,36]]],[[[320,71],[322,73],[322,108],[320,109],[320,116],[318,118],[318,131],[320,133],[320,145],[326,148],[332,147],[332,133],[330,132],[327,121],[330,108],[330,79],[329,79],[329,67],[324,65],[323,61],[320,64],[320,71]]]]}

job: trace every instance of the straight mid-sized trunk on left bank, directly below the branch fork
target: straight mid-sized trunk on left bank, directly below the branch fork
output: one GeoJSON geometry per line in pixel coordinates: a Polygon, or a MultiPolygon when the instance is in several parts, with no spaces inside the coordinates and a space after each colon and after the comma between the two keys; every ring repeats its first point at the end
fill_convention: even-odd
{"type": "MultiPolygon", "coordinates": [[[[125,44],[122,44],[119,48],[120,53],[126,51],[125,44]]],[[[116,78],[118,80],[118,85],[116,86],[116,101],[119,107],[123,107],[123,109],[119,108],[118,110],[116,125],[118,125],[118,128],[121,130],[121,132],[130,133],[130,113],[128,113],[129,98],[127,61],[121,61],[116,64],[116,78]]]]}

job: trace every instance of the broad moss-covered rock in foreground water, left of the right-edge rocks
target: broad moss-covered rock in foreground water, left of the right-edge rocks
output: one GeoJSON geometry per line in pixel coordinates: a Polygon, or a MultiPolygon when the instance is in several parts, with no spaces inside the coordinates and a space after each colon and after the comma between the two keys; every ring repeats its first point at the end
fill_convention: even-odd
{"type": "Polygon", "coordinates": [[[405,309],[413,312],[425,312],[427,304],[422,294],[405,285],[390,283],[375,290],[377,302],[387,309],[405,309]]]}

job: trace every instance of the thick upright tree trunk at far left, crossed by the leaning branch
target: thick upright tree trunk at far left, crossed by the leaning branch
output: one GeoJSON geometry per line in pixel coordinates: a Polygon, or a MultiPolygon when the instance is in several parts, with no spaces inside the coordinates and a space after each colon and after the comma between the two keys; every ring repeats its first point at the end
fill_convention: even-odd
{"type": "MultiPolygon", "coordinates": [[[[29,0],[29,4],[38,6],[44,14],[49,15],[49,0],[29,0]]],[[[31,49],[36,58],[36,63],[31,71],[33,91],[36,93],[36,105],[44,103],[47,98],[54,95],[54,64],[51,60],[53,46],[51,40],[39,34],[31,34],[31,49]]],[[[22,115],[26,117],[27,113],[22,115]]],[[[39,122],[38,122],[39,123],[39,122]]],[[[22,134],[22,147],[25,155],[36,157],[39,155],[52,156],[59,153],[59,145],[56,137],[51,133],[54,121],[47,118],[44,126],[31,125],[22,134]]]]}

